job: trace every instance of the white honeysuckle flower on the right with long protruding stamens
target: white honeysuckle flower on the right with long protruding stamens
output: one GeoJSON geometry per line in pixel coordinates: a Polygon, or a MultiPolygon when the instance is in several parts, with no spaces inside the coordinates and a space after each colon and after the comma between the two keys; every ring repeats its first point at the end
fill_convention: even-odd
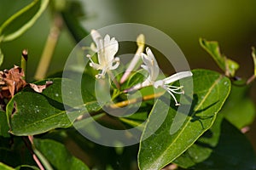
{"type": "Polygon", "coordinates": [[[147,54],[142,54],[143,63],[145,64],[142,65],[142,67],[144,70],[148,71],[149,75],[147,79],[144,82],[138,83],[134,87],[125,90],[125,92],[131,92],[133,90],[144,88],[150,85],[154,86],[154,88],[164,88],[169,94],[171,94],[172,98],[176,103],[175,105],[180,105],[177,103],[177,99],[175,98],[174,94],[184,94],[184,91],[181,90],[183,87],[171,86],[169,84],[172,82],[176,82],[177,80],[183,79],[185,77],[192,77],[192,72],[182,71],[172,75],[171,77],[166,77],[163,80],[155,81],[159,75],[159,66],[150,48],[146,48],[146,52],[147,54]]]}

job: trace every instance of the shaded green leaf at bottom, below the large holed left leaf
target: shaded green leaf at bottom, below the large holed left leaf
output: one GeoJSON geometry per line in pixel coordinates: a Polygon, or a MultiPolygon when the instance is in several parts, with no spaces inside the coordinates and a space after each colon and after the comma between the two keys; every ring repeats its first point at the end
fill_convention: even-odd
{"type": "Polygon", "coordinates": [[[34,139],[36,148],[46,157],[55,169],[88,169],[83,161],[72,156],[65,146],[51,139],[34,139]]]}

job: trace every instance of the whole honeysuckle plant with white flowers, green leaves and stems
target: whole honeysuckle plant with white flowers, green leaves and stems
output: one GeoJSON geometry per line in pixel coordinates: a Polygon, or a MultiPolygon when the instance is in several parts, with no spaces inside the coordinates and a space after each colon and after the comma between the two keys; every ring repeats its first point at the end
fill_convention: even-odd
{"type": "MultiPolygon", "coordinates": [[[[62,71],[49,77],[42,74],[44,78],[37,82],[30,82],[26,77],[26,59],[21,59],[20,66],[1,68],[0,169],[255,169],[253,146],[243,134],[255,120],[255,104],[247,95],[256,77],[254,48],[254,72],[248,79],[237,78],[238,63],[221,54],[218,42],[205,39],[200,39],[201,47],[223,72],[194,69],[163,75],[158,56],[147,47],[143,32],[134,40],[137,44],[134,58],[124,65],[121,55],[117,56],[121,43],[115,35],[101,35],[96,30],[89,33],[75,17],[79,8],[72,10],[77,3],[60,6],[56,2],[32,1],[3,22],[0,45],[27,31],[44,9],[52,5],[51,10],[58,19],[52,31],[61,31],[61,20],[77,42],[90,34],[90,50],[95,54],[80,56],[79,59],[90,59],[82,72],[71,68],[69,77],[61,77],[62,71]],[[121,67],[125,71],[117,73],[121,67]],[[91,68],[98,72],[89,71],[91,68]],[[80,82],[73,79],[81,74],[80,82]],[[193,91],[187,91],[191,79],[193,91]],[[113,101],[111,105],[108,102],[100,105],[96,83],[104,86],[108,82],[109,99],[113,101]],[[154,93],[154,90],[161,91],[154,93]],[[130,99],[136,93],[141,95],[130,99]],[[132,115],[123,116],[125,113],[119,110],[137,108],[138,104],[132,115]],[[162,117],[165,111],[166,116],[162,117]],[[113,137],[112,133],[99,133],[92,120],[115,130],[138,127],[141,135],[125,132],[127,139],[138,138],[137,144],[130,146],[119,140],[113,147],[102,146],[85,139],[73,127],[80,123],[102,142],[108,136],[113,137]],[[177,131],[171,133],[181,120],[177,131]]],[[[52,44],[57,39],[50,42],[52,31],[45,54],[54,54],[52,44]]],[[[0,65],[2,61],[0,49],[0,65]]],[[[44,71],[38,67],[37,72],[44,71]]]]}

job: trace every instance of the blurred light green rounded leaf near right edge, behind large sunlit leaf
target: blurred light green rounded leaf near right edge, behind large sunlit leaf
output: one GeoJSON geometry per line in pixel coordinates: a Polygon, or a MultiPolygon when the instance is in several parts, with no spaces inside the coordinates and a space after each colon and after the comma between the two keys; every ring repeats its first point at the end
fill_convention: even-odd
{"type": "Polygon", "coordinates": [[[233,86],[221,113],[239,129],[253,123],[256,111],[253,100],[249,97],[249,88],[233,86]]]}

